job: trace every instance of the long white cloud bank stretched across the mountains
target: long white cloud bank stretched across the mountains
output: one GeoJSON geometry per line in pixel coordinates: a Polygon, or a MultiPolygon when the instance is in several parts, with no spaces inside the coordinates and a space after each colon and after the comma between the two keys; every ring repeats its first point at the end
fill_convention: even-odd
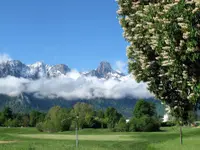
{"type": "Polygon", "coordinates": [[[0,93],[18,96],[21,93],[35,93],[42,97],[62,97],[66,100],[112,98],[126,96],[149,98],[152,94],[145,83],[137,83],[131,76],[123,77],[121,81],[101,80],[96,77],[85,77],[77,71],[57,78],[41,78],[29,80],[8,76],[0,79],[0,93]]]}

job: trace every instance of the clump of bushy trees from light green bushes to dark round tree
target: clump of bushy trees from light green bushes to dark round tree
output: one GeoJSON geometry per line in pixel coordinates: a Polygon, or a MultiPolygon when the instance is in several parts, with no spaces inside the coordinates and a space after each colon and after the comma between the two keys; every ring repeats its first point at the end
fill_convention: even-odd
{"type": "Polygon", "coordinates": [[[72,109],[52,107],[43,122],[37,124],[41,132],[59,132],[84,128],[107,128],[117,132],[158,131],[160,119],[157,117],[155,105],[145,100],[138,100],[133,110],[133,117],[126,118],[115,108],[94,110],[87,103],[76,103],[72,109]]]}

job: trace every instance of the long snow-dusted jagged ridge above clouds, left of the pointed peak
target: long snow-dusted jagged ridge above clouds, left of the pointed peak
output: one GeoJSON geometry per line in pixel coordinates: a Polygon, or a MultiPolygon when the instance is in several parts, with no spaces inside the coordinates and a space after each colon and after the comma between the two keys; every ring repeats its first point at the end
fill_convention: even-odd
{"type": "Polygon", "coordinates": [[[25,65],[18,60],[11,60],[0,64],[0,78],[15,76],[17,78],[38,79],[42,77],[57,77],[69,71],[69,67],[63,64],[49,66],[42,62],[37,62],[32,65],[25,65]]]}

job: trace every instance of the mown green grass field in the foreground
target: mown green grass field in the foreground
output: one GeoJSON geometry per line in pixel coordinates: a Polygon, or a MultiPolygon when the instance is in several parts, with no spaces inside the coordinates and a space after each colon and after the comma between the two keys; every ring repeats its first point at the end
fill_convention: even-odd
{"type": "MultiPolygon", "coordinates": [[[[124,133],[87,129],[79,131],[80,150],[198,150],[200,128],[184,128],[184,145],[177,127],[162,132],[124,133]]],[[[41,133],[35,128],[0,128],[0,150],[73,150],[74,132],[41,133]]]]}

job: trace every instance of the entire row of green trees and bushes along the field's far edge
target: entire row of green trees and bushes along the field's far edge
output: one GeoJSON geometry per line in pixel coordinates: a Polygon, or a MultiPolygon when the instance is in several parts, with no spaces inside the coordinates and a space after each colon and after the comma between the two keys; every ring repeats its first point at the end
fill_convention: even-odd
{"type": "Polygon", "coordinates": [[[62,132],[84,128],[102,128],[117,132],[158,131],[160,119],[155,105],[145,100],[138,100],[133,117],[128,121],[115,108],[95,110],[87,103],[76,103],[73,108],[52,107],[47,113],[13,113],[9,107],[0,112],[0,125],[5,127],[36,127],[41,132],[62,132]]]}

